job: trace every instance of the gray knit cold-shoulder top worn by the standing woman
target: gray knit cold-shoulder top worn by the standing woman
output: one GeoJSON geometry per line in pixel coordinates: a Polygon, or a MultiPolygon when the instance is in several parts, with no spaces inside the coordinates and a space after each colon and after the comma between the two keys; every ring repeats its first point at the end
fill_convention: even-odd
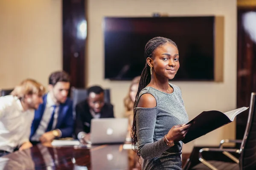
{"type": "Polygon", "coordinates": [[[188,122],[180,88],[170,84],[173,93],[168,94],[152,87],[145,87],[140,91],[151,94],[157,102],[155,108],[136,107],[136,124],[138,150],[144,159],[143,170],[182,170],[181,148],[182,142],[177,142],[169,147],[163,141],[174,125],[188,122]]]}

